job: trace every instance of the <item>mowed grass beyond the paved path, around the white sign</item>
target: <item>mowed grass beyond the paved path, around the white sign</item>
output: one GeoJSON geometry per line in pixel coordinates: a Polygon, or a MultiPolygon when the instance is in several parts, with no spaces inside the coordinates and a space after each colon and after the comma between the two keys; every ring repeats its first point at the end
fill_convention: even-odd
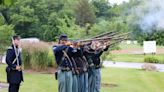
{"type": "MultiPolygon", "coordinates": [[[[131,49],[142,49],[143,47],[139,44],[126,44],[121,43],[119,45],[121,50],[131,50],[131,49]]],[[[157,49],[164,48],[164,46],[157,46],[157,49]]],[[[107,56],[107,60],[113,61],[121,61],[121,62],[144,62],[145,57],[155,57],[157,58],[161,63],[164,63],[164,54],[156,54],[156,55],[143,55],[143,54],[128,54],[128,53],[115,53],[110,54],[107,56]]]]}

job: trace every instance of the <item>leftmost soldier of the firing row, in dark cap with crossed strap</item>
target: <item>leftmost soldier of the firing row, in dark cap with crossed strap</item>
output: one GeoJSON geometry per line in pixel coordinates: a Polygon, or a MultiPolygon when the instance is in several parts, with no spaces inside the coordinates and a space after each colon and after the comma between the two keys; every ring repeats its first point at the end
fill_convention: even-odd
{"type": "Polygon", "coordinates": [[[58,92],[73,92],[73,65],[70,57],[74,54],[74,49],[68,46],[68,44],[70,45],[67,35],[61,35],[59,37],[59,45],[53,47],[56,63],[58,65],[58,92]]]}

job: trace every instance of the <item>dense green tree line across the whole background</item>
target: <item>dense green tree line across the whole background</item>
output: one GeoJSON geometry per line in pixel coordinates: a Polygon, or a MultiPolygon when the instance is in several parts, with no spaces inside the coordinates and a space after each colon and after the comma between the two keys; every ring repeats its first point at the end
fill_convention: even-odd
{"type": "Polygon", "coordinates": [[[131,39],[140,43],[157,40],[157,44],[164,45],[162,29],[153,27],[152,32],[147,32],[138,24],[141,17],[132,10],[143,3],[142,0],[120,5],[108,0],[1,0],[0,43],[8,44],[13,34],[55,41],[62,33],[70,39],[82,39],[116,30],[132,32],[131,39]]]}

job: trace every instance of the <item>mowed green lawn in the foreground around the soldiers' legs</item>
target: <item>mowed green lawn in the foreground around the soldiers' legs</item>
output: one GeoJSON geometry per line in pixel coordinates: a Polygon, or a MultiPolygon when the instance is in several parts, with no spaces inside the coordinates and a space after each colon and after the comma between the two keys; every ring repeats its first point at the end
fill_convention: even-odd
{"type": "MultiPolygon", "coordinates": [[[[4,65],[0,65],[0,81],[6,80],[4,65]]],[[[20,92],[58,92],[54,74],[25,74],[20,92]]],[[[104,68],[101,92],[163,92],[164,73],[146,72],[136,69],[104,68]]],[[[7,89],[0,90],[7,92],[7,89]]]]}

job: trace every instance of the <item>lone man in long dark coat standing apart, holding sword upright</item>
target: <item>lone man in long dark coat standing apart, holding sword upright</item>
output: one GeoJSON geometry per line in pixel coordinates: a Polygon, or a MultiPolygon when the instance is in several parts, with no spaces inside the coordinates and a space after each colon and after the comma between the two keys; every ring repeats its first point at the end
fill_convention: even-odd
{"type": "Polygon", "coordinates": [[[20,37],[12,37],[12,45],[7,49],[7,82],[9,83],[8,92],[19,92],[20,83],[23,81],[22,59],[20,52],[20,37]]]}

